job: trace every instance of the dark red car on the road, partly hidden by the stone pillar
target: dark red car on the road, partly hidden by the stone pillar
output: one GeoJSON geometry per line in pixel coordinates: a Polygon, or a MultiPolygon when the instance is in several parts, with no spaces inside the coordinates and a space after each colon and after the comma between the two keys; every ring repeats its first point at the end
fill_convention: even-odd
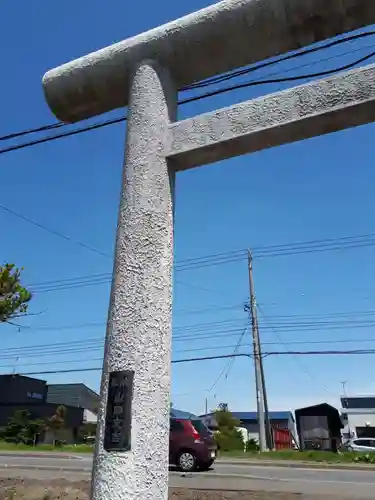
{"type": "Polygon", "coordinates": [[[217,456],[212,432],[199,419],[171,418],[169,463],[183,472],[207,470],[217,456]]]}

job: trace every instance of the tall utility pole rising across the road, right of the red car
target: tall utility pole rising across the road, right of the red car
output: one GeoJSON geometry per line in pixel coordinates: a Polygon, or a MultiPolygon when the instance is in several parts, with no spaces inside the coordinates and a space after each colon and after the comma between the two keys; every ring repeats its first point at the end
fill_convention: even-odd
{"type": "MultiPolygon", "coordinates": [[[[264,397],[264,376],[262,377],[262,358],[259,342],[258,330],[258,317],[256,308],[256,299],[253,281],[253,264],[252,255],[248,251],[247,263],[249,271],[249,288],[250,288],[250,316],[251,316],[251,331],[253,336],[253,354],[254,354],[254,367],[255,367],[255,388],[257,397],[257,415],[259,423],[259,448],[260,451],[266,451],[266,428],[265,428],[265,404],[266,398],[264,397]]],[[[267,419],[269,420],[269,419],[267,419]]]]}

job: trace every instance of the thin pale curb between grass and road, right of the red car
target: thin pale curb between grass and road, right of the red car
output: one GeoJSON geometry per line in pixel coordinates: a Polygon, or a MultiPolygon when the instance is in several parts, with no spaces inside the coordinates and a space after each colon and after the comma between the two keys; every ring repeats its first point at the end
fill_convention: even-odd
{"type": "Polygon", "coordinates": [[[215,463],[221,465],[245,465],[248,467],[280,467],[289,469],[317,469],[317,470],[353,470],[375,471],[375,464],[346,464],[346,463],[317,463],[317,462],[283,462],[279,460],[246,460],[246,459],[219,459],[215,463]]]}

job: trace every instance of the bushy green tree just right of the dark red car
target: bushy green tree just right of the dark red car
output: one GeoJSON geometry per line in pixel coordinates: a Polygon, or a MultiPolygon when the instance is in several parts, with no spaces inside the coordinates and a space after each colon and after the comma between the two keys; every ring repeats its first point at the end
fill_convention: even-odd
{"type": "Polygon", "coordinates": [[[221,405],[215,411],[215,420],[218,427],[215,440],[219,448],[223,451],[243,450],[243,437],[241,431],[238,430],[241,423],[233,417],[227,405],[221,405]]]}

